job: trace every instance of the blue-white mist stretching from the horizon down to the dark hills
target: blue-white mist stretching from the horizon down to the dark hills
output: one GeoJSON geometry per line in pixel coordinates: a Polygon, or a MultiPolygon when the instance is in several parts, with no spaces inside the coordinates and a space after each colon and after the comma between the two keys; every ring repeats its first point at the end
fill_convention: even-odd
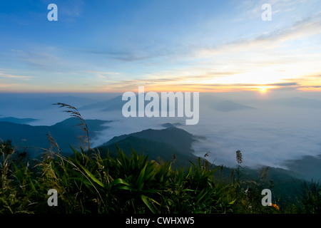
{"type": "MultiPolygon", "coordinates": [[[[288,105],[287,100],[280,102],[280,99],[313,98],[311,94],[253,94],[200,94],[197,125],[185,125],[186,118],[124,118],[121,110],[101,111],[104,107],[81,110],[81,115],[84,119],[112,120],[91,140],[92,147],[114,136],[148,128],[162,129],[164,123],[178,123],[178,128],[197,138],[193,143],[195,155],[203,157],[208,152],[207,159],[215,165],[235,167],[235,152],[240,150],[244,166],[268,165],[294,170],[296,160],[313,159],[321,154],[321,105],[317,106],[321,100],[309,100],[311,105],[302,107],[300,103],[288,105]],[[222,104],[225,109],[220,110],[222,104]]],[[[114,97],[116,94],[103,98],[99,94],[34,95],[29,98],[1,94],[0,118],[35,118],[37,120],[30,125],[54,125],[70,116],[52,103],[68,103],[79,108],[114,97]]],[[[306,167],[308,173],[308,164],[306,167]]]]}

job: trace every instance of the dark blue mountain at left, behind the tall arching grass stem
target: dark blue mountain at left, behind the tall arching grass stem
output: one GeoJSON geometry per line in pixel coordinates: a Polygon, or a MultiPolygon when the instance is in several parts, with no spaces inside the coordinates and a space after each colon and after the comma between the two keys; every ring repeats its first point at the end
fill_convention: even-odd
{"type": "MultiPolygon", "coordinates": [[[[88,125],[89,137],[95,138],[99,131],[106,129],[105,120],[85,120],[88,125]]],[[[51,126],[31,126],[26,124],[0,122],[0,139],[11,140],[13,145],[21,148],[28,148],[32,155],[37,156],[39,152],[50,147],[47,134],[50,134],[58,143],[61,152],[72,152],[69,145],[79,149],[86,145],[81,143],[79,137],[85,135],[78,125],[77,118],[68,118],[60,123],[51,126]]]]}

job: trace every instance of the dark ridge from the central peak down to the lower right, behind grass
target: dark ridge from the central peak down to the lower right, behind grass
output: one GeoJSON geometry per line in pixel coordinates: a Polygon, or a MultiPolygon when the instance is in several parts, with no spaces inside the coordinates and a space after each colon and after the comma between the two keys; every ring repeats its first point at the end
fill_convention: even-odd
{"type": "MultiPolygon", "coordinates": [[[[177,148],[170,145],[170,143],[168,143],[167,140],[164,140],[164,138],[161,137],[161,135],[166,135],[168,134],[168,132],[170,133],[170,130],[173,130],[173,128],[175,127],[170,126],[169,128],[165,128],[163,130],[147,129],[138,133],[119,135],[109,140],[108,142],[105,142],[103,145],[97,147],[97,149],[100,152],[109,151],[110,154],[114,157],[116,157],[117,155],[117,147],[119,148],[119,150],[123,150],[123,152],[128,156],[131,156],[132,150],[135,150],[138,155],[148,155],[148,158],[150,160],[158,161],[161,159],[163,161],[172,162],[174,168],[182,166],[188,168],[191,165],[190,162],[197,164],[198,157],[193,154],[193,150],[177,150],[177,148]],[[158,141],[155,140],[156,135],[159,136],[158,141]]],[[[182,135],[182,138],[190,137],[190,135],[188,134],[182,135]]],[[[189,139],[195,140],[194,137],[195,136],[192,136],[192,138],[189,139]]],[[[202,163],[204,159],[205,157],[200,157],[200,161],[202,163]]],[[[215,178],[218,178],[220,180],[222,180],[223,178],[223,180],[226,180],[227,182],[234,181],[230,178],[231,174],[235,172],[233,170],[236,170],[236,167],[222,166],[223,169],[220,169],[220,165],[211,164],[211,166],[212,168],[218,168],[218,170],[214,173],[215,178]]],[[[270,182],[270,187],[272,187],[272,191],[274,192],[275,197],[291,199],[291,197],[295,195],[295,191],[299,190],[302,185],[302,182],[304,182],[304,180],[300,178],[300,175],[296,172],[284,170],[281,168],[265,166],[258,168],[243,167],[241,180],[243,180],[244,183],[246,183],[247,180],[255,180],[260,182],[261,169],[268,170],[267,176],[265,177],[265,182],[270,182]]],[[[255,187],[255,185],[253,185],[252,187],[255,187]]]]}

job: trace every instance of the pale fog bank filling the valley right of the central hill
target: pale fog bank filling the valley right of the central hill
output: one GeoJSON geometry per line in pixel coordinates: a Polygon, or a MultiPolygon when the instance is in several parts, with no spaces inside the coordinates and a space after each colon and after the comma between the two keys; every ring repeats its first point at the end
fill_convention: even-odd
{"type": "Polygon", "coordinates": [[[205,137],[194,144],[194,150],[200,156],[209,151],[216,165],[236,165],[236,150],[243,152],[244,165],[283,168],[286,160],[320,154],[321,132],[315,124],[320,122],[320,108],[312,111],[252,100],[255,109],[220,113],[210,102],[201,105],[198,125],[182,128],[205,137]]]}

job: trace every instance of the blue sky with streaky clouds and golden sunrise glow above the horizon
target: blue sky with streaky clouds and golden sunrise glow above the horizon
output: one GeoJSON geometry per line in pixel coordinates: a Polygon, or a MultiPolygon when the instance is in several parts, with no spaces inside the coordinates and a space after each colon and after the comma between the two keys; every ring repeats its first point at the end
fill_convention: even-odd
{"type": "Polygon", "coordinates": [[[0,93],[315,92],[320,41],[320,0],[0,1],[0,93]]]}

